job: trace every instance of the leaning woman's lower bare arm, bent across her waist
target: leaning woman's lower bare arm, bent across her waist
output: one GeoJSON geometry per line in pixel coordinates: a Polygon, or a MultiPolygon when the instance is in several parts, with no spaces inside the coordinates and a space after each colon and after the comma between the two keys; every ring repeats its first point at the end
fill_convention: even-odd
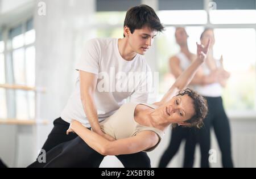
{"type": "Polygon", "coordinates": [[[75,132],[93,150],[101,155],[134,154],[147,150],[159,142],[158,136],[152,131],[142,131],[134,137],[109,141],[101,135],[90,131],[82,126],[80,122],[73,120],[67,134],[75,132]]]}

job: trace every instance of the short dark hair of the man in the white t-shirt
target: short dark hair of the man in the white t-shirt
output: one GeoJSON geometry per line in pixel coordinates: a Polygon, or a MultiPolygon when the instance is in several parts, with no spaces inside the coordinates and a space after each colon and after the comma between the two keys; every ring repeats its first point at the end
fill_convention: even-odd
{"type": "MultiPolygon", "coordinates": [[[[142,29],[145,26],[157,32],[164,30],[154,9],[147,5],[131,7],[126,13],[123,27],[125,26],[130,28],[131,33],[133,33],[135,29],[142,29]]],[[[125,35],[123,36],[125,37],[125,35]]]]}

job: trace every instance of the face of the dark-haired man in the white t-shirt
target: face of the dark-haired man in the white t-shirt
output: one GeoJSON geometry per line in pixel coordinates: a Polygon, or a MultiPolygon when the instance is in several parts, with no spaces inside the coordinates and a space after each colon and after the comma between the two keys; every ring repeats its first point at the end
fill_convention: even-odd
{"type": "Polygon", "coordinates": [[[135,29],[133,33],[127,34],[127,39],[131,49],[141,55],[144,55],[153,43],[156,31],[149,27],[135,29]]]}

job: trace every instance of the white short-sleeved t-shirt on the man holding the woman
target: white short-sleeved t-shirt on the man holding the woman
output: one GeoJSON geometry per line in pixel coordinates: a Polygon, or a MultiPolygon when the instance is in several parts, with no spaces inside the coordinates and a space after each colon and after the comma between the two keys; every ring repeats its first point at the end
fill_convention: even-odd
{"type": "MultiPolygon", "coordinates": [[[[89,40],[76,70],[98,75],[94,101],[99,121],[111,116],[128,97],[133,102],[147,103],[152,83],[151,69],[139,54],[132,61],[123,59],[118,50],[118,39],[89,40]]],[[[79,77],[61,118],[66,122],[74,119],[90,127],[81,103],[79,77]]]]}

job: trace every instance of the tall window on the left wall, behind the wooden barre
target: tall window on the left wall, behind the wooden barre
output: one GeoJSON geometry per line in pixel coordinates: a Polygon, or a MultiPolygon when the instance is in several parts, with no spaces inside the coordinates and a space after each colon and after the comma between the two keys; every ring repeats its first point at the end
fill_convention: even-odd
{"type": "MultiPolygon", "coordinates": [[[[5,38],[0,40],[0,83],[34,87],[35,30],[32,19],[6,28],[3,37],[5,38]]],[[[0,97],[0,118],[35,118],[34,92],[0,88],[0,97]]]]}

